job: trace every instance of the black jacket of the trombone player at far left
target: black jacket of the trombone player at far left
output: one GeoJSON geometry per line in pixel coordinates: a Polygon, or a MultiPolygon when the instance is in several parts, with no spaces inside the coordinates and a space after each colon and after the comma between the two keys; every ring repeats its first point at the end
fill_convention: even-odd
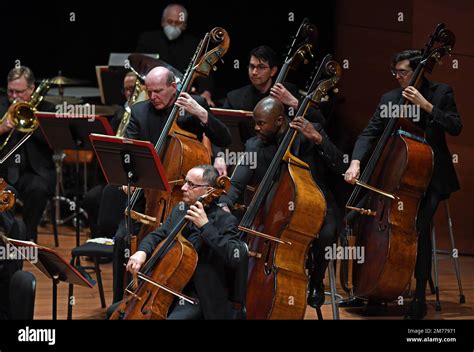
{"type": "MultiPolygon", "coordinates": [[[[8,99],[0,101],[0,116],[3,116],[8,110],[8,99]]],[[[41,102],[38,106],[39,111],[54,112],[55,106],[48,102],[41,102]]],[[[11,149],[23,137],[23,133],[14,132],[12,138],[8,142],[5,152],[11,149]]],[[[0,136],[3,143],[7,133],[0,136]]],[[[5,152],[2,155],[5,155],[5,152]]],[[[0,166],[2,176],[7,179],[10,184],[15,184],[20,177],[20,171],[25,168],[32,169],[36,174],[48,181],[49,184],[55,182],[55,169],[52,159],[53,151],[48,145],[41,128],[38,128],[23,146],[20,147],[4,165],[0,166]]]]}

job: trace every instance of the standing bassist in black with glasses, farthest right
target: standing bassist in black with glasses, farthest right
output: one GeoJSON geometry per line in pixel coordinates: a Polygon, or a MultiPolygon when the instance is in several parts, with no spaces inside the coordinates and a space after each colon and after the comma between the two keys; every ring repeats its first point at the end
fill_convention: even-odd
{"type": "Polygon", "coordinates": [[[383,133],[388,119],[381,117],[381,109],[389,103],[397,104],[403,96],[420,108],[420,116],[413,122],[425,131],[426,140],[433,149],[434,168],[431,182],[421,201],[416,218],[418,247],[415,266],[416,289],[414,299],[407,309],[406,319],[423,319],[427,313],[425,291],[431,275],[430,226],[440,201],[448,199],[459,189],[451,153],[446,144],[446,133],[457,136],[462,130],[461,116],[454,100],[453,89],[444,83],[436,83],[424,78],[420,89],[409,86],[414,70],[421,59],[419,50],[405,50],[392,59],[392,74],[400,88],[385,93],[369,121],[359,135],[345,180],[354,183],[360,176],[361,163],[369,156],[370,150],[383,133]]]}

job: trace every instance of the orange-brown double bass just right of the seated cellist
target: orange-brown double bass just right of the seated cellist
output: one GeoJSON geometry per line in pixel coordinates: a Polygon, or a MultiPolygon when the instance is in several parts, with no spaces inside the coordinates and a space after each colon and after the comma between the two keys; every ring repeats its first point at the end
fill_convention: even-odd
{"type": "MultiPolygon", "coordinates": [[[[333,90],[341,67],[327,55],[297,116],[333,90]],[[323,74],[327,79],[320,79],[323,74]]],[[[309,245],[326,215],[326,200],[309,166],[292,152],[298,131],[288,128],[239,225],[249,241],[247,317],[302,319],[306,310],[309,245]]],[[[243,235],[242,234],[242,235],[243,235]]]]}

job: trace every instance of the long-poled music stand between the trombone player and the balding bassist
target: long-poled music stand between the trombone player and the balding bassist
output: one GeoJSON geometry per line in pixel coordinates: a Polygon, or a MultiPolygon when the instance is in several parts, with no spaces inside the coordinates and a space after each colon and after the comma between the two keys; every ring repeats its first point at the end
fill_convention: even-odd
{"type": "Polygon", "coordinates": [[[74,149],[76,151],[76,201],[74,210],[76,213],[76,246],[79,246],[79,151],[92,150],[92,145],[89,141],[91,133],[112,135],[112,127],[105,117],[96,115],[89,117],[51,113],[35,113],[35,115],[51,149],[55,151],[74,149]]]}

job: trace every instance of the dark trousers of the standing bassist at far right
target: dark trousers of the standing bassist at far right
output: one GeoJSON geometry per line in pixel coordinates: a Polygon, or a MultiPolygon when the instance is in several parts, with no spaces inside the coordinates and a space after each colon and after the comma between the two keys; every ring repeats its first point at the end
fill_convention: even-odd
{"type": "Polygon", "coordinates": [[[431,222],[436,213],[438,204],[446,197],[441,196],[432,187],[429,187],[425,197],[421,200],[418,210],[416,227],[418,231],[418,250],[416,256],[415,298],[424,301],[426,283],[431,276],[431,222]]]}

